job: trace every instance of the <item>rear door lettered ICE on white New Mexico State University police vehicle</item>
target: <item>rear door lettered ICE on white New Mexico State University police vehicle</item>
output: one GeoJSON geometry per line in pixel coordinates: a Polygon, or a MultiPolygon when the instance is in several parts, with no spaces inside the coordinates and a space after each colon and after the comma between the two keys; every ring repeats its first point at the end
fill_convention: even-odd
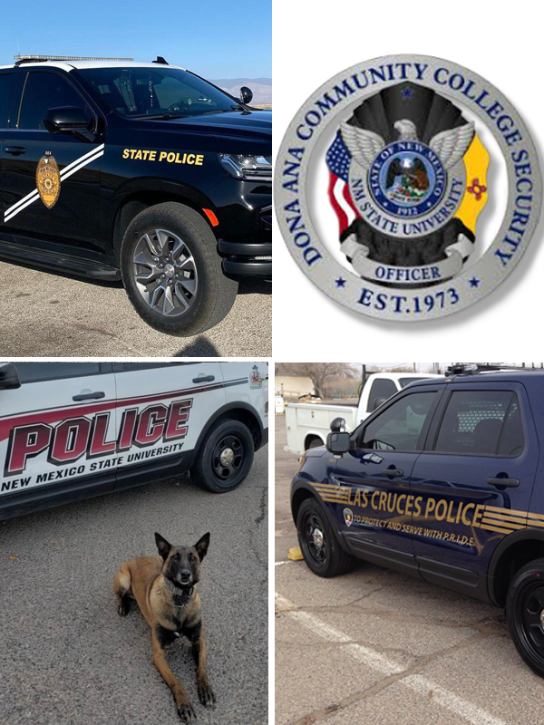
{"type": "Polygon", "coordinates": [[[219,362],[114,362],[113,370],[123,439],[118,478],[136,464],[194,449],[234,384],[223,380],[219,362]]]}

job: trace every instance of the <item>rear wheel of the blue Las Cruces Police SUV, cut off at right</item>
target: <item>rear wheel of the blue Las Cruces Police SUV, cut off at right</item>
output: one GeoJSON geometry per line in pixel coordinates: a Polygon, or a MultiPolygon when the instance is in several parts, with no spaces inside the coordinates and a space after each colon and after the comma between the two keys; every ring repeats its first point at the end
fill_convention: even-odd
{"type": "Polygon", "coordinates": [[[522,566],[506,597],[510,636],[523,662],[544,677],[544,559],[522,566]]]}

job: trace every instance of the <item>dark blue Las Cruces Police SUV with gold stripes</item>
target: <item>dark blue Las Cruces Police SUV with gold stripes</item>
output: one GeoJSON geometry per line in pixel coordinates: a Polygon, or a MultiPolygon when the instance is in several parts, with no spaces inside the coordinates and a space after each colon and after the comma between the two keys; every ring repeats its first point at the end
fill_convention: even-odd
{"type": "Polygon", "coordinates": [[[291,507],[309,568],[355,558],[506,607],[544,676],[544,370],[413,382],[306,451],[291,507]]]}

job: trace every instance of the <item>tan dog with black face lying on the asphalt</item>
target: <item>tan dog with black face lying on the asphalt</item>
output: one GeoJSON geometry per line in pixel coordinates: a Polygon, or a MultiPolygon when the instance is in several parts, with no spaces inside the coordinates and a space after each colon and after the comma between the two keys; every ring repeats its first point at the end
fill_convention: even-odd
{"type": "Polygon", "coordinates": [[[140,556],[123,562],[115,575],[113,591],[121,616],[128,614],[130,599],[138,603],[151,627],[153,664],[170,687],[181,720],[190,722],[197,716],[189,695],[166,662],[166,648],[182,634],[189,639],[197,663],[199,700],[203,705],[213,705],[215,695],[206,672],[206,642],[197,591],[209,533],[195,546],[171,546],[160,534],[155,534],[155,541],[160,556],[140,556]]]}

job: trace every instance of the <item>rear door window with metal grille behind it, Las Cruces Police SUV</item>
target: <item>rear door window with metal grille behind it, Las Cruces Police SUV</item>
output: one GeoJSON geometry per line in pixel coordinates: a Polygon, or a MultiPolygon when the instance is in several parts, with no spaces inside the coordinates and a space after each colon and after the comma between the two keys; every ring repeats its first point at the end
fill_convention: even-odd
{"type": "Polygon", "coordinates": [[[456,391],[435,450],[472,456],[518,456],[524,448],[518,396],[510,391],[456,391]]]}

